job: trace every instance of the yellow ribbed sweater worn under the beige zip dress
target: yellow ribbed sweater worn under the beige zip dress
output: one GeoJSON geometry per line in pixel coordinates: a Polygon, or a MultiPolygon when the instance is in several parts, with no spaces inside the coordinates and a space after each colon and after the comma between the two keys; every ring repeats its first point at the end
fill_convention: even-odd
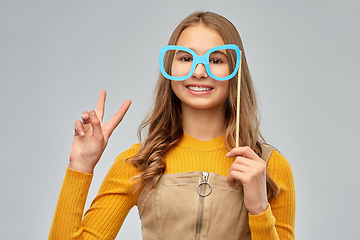
{"type": "MultiPolygon", "coordinates": [[[[66,170],[49,239],[115,239],[139,192],[133,193],[130,179],[138,170],[124,162],[139,150],[133,145],[121,153],[107,173],[90,208],[83,217],[92,174],[66,170]]],[[[166,154],[165,174],[206,171],[227,176],[234,158],[227,158],[223,136],[200,141],[184,134],[177,147],[166,154]]],[[[295,186],[291,167],[274,151],[268,162],[272,179],[280,187],[261,215],[249,215],[253,240],[295,239],[295,186]]]]}

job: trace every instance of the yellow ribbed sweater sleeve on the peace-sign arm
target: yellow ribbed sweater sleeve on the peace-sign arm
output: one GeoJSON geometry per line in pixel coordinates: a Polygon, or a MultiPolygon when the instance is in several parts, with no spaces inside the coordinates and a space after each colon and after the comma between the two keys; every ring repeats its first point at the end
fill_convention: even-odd
{"type": "Polygon", "coordinates": [[[131,178],[139,172],[124,161],[138,150],[133,145],[116,158],[84,217],[92,174],[66,169],[48,239],[115,239],[138,197],[131,178]]]}

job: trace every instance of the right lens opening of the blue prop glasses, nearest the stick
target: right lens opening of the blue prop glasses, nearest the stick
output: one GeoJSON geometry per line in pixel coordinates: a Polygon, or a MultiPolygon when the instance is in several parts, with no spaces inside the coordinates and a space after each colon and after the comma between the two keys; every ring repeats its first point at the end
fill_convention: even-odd
{"type": "Polygon", "coordinates": [[[225,78],[234,71],[236,61],[236,51],[233,49],[214,51],[209,56],[210,71],[215,77],[225,78]]]}

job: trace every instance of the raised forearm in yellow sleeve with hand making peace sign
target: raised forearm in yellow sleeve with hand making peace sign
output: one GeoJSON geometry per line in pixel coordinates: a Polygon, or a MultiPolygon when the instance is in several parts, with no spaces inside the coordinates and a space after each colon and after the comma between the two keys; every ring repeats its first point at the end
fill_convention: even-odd
{"type": "Polygon", "coordinates": [[[91,184],[92,173],[108,140],[130,107],[127,100],[108,123],[103,123],[106,92],[101,91],[96,111],[83,112],[75,122],[69,166],[60,192],[49,239],[78,239],[82,213],[91,184]],[[62,216],[62,217],[61,217],[62,216]],[[55,233],[66,233],[58,237],[55,233]]]}

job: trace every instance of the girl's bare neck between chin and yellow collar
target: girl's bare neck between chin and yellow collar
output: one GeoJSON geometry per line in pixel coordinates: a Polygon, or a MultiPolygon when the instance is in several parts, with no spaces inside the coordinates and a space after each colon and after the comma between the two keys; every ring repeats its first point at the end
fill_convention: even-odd
{"type": "Polygon", "coordinates": [[[181,107],[182,126],[185,134],[208,141],[225,133],[222,107],[215,109],[194,109],[183,105],[181,107]]]}

